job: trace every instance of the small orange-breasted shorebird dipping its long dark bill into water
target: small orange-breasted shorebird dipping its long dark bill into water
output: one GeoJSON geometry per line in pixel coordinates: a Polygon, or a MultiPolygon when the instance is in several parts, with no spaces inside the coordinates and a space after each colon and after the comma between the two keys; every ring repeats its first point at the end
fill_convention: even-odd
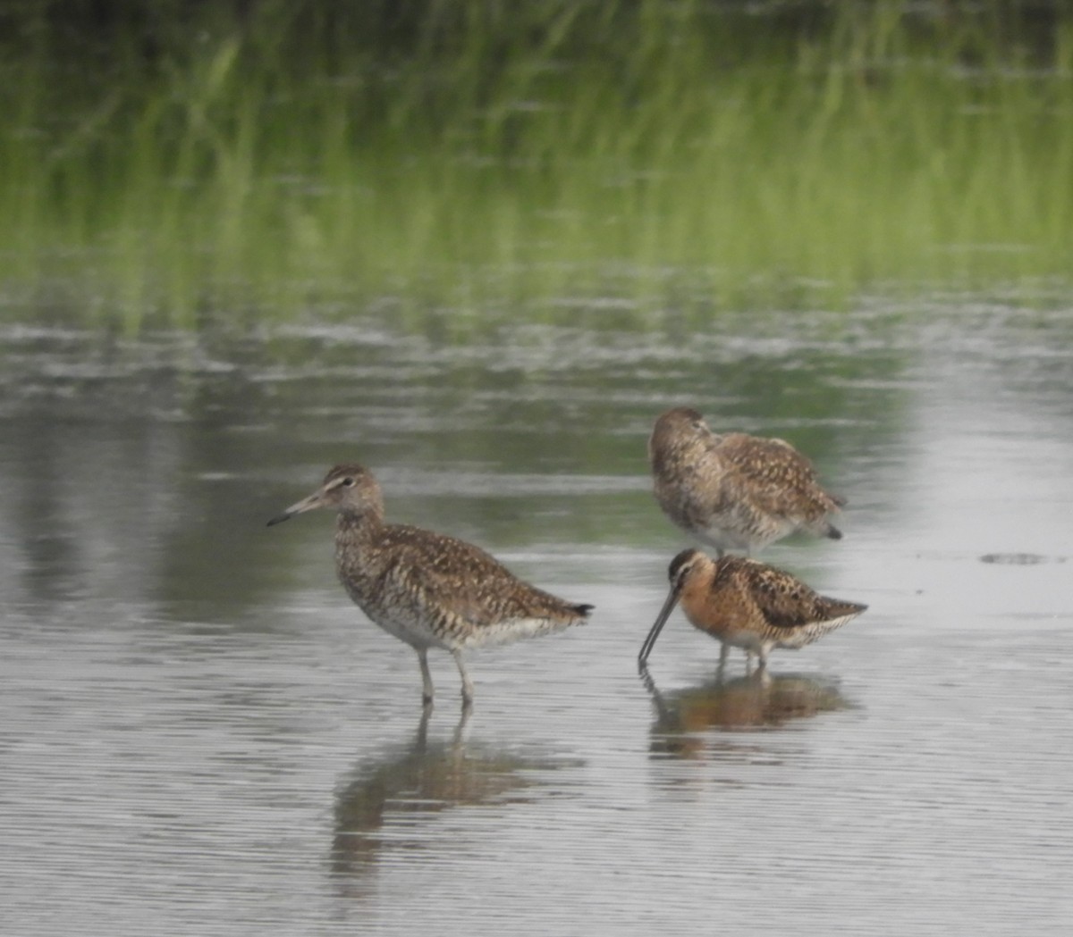
{"type": "Polygon", "coordinates": [[[642,665],[679,601],[693,627],[722,642],[720,669],[732,646],[758,654],[764,669],[773,649],[804,648],[868,608],[819,595],[789,572],[745,556],[712,560],[682,550],[667,576],[671,593],[641,648],[642,665]]]}

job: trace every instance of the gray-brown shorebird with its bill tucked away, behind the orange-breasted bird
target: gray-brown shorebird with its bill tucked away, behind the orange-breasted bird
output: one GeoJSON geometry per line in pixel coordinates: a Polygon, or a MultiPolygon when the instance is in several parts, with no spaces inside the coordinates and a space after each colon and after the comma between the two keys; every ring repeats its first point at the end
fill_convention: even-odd
{"type": "Polygon", "coordinates": [[[663,512],[720,556],[752,553],[800,530],[842,536],[827,520],[842,500],[820,487],[812,463],[783,440],[720,435],[679,406],[656,420],[648,461],[663,512]]]}

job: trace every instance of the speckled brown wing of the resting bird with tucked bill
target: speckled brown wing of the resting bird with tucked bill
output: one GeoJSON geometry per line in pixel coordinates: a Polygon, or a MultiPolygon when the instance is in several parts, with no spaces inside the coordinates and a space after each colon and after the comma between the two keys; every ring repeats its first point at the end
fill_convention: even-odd
{"type": "Polygon", "coordinates": [[[809,503],[821,514],[838,507],[838,500],[820,487],[812,463],[783,440],[727,433],[719,442],[719,453],[767,514],[796,514],[809,503]]]}

